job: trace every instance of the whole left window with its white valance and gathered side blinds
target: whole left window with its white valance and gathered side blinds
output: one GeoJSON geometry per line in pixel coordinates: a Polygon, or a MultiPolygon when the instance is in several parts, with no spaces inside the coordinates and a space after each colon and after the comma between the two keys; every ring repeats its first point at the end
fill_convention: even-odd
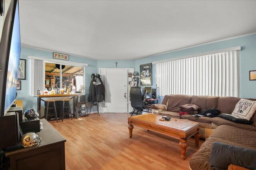
{"type": "MultiPolygon", "coordinates": [[[[56,88],[57,82],[62,82],[62,88],[64,88],[64,90],[66,90],[67,86],[70,87],[70,91],[72,91],[73,87],[76,88],[75,91],[78,91],[80,90],[80,85],[84,84],[84,70],[85,66],[88,66],[86,63],[76,63],[72,61],[56,63],[58,62],[56,59],[34,56],[28,56],[28,59],[31,67],[31,72],[29,72],[30,75],[28,76],[30,77],[30,95],[32,97],[37,96],[38,88],[40,88],[42,92],[44,91],[44,86],[48,86],[46,87],[48,89],[51,87],[56,88]],[[46,69],[46,63],[52,64],[52,67],[49,67],[48,70],[46,69]],[[64,65],[65,68],[58,70],[56,64],[60,64],[60,66],[64,65]],[[48,76],[46,76],[45,79],[45,75],[47,74],[48,76]]],[[[58,88],[60,88],[59,84],[57,84],[58,88]]]]}

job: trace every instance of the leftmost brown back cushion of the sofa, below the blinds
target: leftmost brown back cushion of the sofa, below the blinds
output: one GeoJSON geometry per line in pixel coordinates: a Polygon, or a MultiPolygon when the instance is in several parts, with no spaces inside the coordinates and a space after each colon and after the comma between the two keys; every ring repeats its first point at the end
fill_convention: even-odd
{"type": "Polygon", "coordinates": [[[173,94],[168,98],[168,106],[167,111],[179,112],[180,106],[184,104],[189,104],[191,100],[191,96],[181,95],[181,94],[173,94]]]}

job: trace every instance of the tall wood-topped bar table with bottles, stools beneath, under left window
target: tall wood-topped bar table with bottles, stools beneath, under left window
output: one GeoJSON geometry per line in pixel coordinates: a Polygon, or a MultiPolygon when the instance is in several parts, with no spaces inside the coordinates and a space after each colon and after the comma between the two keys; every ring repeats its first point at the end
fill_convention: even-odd
{"type": "MultiPolygon", "coordinates": [[[[75,114],[75,111],[76,111],[76,105],[77,105],[77,102],[78,102],[78,96],[80,94],[79,93],[75,93],[75,94],[39,94],[38,95],[38,100],[37,100],[37,110],[38,110],[38,113],[41,113],[39,112],[41,110],[41,100],[42,98],[58,98],[58,97],[71,97],[70,99],[73,99],[73,113],[75,114]]],[[[42,100],[44,101],[44,100],[42,100]]],[[[76,118],[78,119],[78,113],[76,113],[76,118]]]]}

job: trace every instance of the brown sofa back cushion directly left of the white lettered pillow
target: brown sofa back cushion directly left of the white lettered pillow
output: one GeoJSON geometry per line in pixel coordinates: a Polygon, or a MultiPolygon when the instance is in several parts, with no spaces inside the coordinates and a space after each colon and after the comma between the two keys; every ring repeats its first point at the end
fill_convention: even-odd
{"type": "Polygon", "coordinates": [[[231,114],[239,100],[240,98],[236,97],[220,97],[216,109],[220,110],[220,113],[231,114]]]}

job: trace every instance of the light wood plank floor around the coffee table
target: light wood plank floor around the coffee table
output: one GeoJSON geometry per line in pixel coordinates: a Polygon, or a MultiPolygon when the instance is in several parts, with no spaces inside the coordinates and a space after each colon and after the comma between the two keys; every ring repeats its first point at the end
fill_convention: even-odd
{"type": "Polygon", "coordinates": [[[180,158],[179,140],[134,126],[129,138],[129,113],[90,114],[79,119],[50,121],[66,138],[67,170],[189,169],[191,156],[198,151],[194,138],[188,139],[186,160],[180,158]]]}

